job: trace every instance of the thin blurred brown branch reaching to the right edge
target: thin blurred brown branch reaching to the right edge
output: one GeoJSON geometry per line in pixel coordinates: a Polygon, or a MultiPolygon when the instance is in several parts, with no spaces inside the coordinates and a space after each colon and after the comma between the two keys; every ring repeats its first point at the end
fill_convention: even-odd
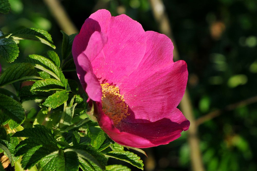
{"type": "Polygon", "coordinates": [[[206,122],[208,120],[211,120],[211,119],[221,115],[223,112],[231,111],[231,110],[234,110],[235,108],[237,108],[239,106],[246,106],[246,105],[249,105],[249,104],[252,104],[252,103],[256,103],[256,102],[257,102],[257,96],[254,96],[254,97],[242,100],[240,102],[227,105],[227,106],[225,106],[222,109],[214,110],[213,112],[210,112],[210,113],[208,113],[208,114],[198,118],[196,120],[196,125],[199,126],[199,125],[203,124],[204,122],[206,122]]]}

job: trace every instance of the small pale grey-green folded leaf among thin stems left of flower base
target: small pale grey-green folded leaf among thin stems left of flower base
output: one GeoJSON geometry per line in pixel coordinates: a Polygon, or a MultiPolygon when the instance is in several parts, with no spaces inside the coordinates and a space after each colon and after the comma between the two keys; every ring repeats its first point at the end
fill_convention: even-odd
{"type": "MultiPolygon", "coordinates": [[[[68,100],[68,98],[67,98],[67,100],[68,100]]],[[[62,118],[61,118],[60,123],[59,123],[60,128],[62,128],[64,126],[70,126],[71,125],[71,120],[72,120],[72,117],[74,115],[74,110],[75,110],[76,105],[77,105],[77,103],[75,103],[71,107],[65,107],[64,108],[62,118]]]]}

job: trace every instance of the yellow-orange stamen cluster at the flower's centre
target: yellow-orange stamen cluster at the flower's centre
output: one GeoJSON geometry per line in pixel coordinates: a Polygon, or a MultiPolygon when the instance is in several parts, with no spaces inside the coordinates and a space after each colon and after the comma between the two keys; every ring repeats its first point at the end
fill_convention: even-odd
{"type": "Polygon", "coordinates": [[[120,89],[109,83],[101,84],[102,86],[102,110],[109,116],[116,126],[122,119],[128,115],[128,105],[124,103],[123,95],[120,89]]]}

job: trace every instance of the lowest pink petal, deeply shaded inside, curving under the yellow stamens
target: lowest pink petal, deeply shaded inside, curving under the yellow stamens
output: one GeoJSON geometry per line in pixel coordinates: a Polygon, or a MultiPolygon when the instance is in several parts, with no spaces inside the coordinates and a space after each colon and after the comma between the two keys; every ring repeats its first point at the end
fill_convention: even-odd
{"type": "Polygon", "coordinates": [[[177,108],[167,118],[153,123],[121,122],[116,128],[112,120],[103,113],[98,117],[98,123],[115,142],[136,148],[168,144],[180,137],[181,132],[187,130],[190,124],[177,108]]]}

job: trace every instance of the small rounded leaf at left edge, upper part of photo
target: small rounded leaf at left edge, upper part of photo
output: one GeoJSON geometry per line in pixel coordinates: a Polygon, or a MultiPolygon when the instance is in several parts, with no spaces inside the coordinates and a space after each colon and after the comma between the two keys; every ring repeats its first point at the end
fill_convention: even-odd
{"type": "Polygon", "coordinates": [[[19,47],[11,39],[0,39],[0,57],[7,62],[13,62],[19,56],[19,47]]]}

